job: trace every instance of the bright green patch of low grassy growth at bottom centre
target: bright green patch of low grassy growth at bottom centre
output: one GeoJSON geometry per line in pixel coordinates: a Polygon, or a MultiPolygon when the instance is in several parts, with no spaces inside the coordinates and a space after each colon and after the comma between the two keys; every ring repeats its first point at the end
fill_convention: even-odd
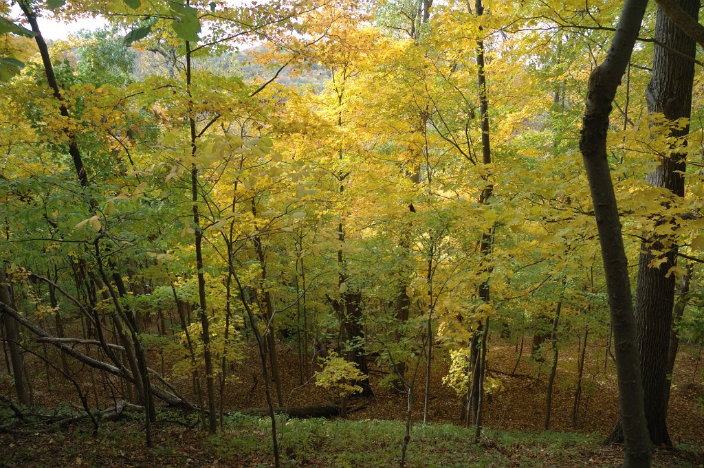
{"type": "MultiPolygon", "coordinates": [[[[396,421],[291,419],[279,424],[281,453],[289,466],[393,467],[398,465],[404,428],[396,421]]],[[[268,419],[234,417],[215,436],[224,457],[271,453],[268,419]],[[228,453],[232,450],[234,453],[228,453]]],[[[570,462],[584,450],[598,450],[596,437],[557,432],[484,431],[474,445],[474,429],[451,424],[414,426],[408,467],[544,467],[570,462]],[[471,464],[470,464],[471,463],[471,464]]],[[[570,466],[566,464],[565,466],[570,466]]],[[[598,465],[597,465],[598,466],[598,465]]]]}

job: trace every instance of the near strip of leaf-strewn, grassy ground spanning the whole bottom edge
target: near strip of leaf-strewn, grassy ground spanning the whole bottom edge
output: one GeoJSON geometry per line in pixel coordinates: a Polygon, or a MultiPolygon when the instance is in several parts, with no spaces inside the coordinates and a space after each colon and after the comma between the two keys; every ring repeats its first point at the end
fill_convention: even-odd
{"type": "MultiPolygon", "coordinates": [[[[186,419],[183,421],[187,423],[186,419]]],[[[283,467],[398,467],[403,422],[348,419],[277,419],[283,467]]],[[[208,435],[188,424],[155,426],[156,446],[144,448],[142,424],[106,422],[97,439],[88,428],[11,438],[0,436],[8,450],[0,467],[271,467],[272,441],[268,418],[232,413],[225,427],[208,435]],[[78,461],[77,461],[78,460],[78,461]]],[[[411,431],[409,468],[558,468],[619,467],[622,450],[604,447],[598,434],[553,431],[482,431],[474,445],[474,429],[452,424],[417,424],[411,431]]],[[[701,447],[686,445],[660,450],[654,468],[703,466],[701,447]]]]}

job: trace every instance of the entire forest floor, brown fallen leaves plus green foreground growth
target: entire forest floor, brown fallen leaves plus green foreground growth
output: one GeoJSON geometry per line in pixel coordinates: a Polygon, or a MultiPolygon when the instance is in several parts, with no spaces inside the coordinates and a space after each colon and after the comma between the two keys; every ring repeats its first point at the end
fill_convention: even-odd
{"type": "MultiPolygon", "coordinates": [[[[528,346],[527,342],[527,350],[528,346]]],[[[239,379],[227,384],[226,411],[265,406],[258,356],[254,348],[247,351],[246,358],[234,365],[233,374],[239,379]]],[[[333,400],[331,394],[315,386],[312,380],[299,383],[294,348],[280,346],[278,353],[284,405],[315,405],[333,400]]],[[[447,363],[441,353],[437,356],[428,405],[428,422],[432,424],[427,426],[422,425],[425,362],[420,362],[407,466],[619,466],[621,448],[601,445],[618,415],[614,365],[608,360],[604,369],[603,348],[595,347],[587,353],[582,403],[574,428],[576,346],[560,352],[551,431],[542,431],[548,365],[543,364],[544,369],[540,369],[524,356],[512,376],[518,356],[515,345],[494,340],[487,361],[489,376],[500,379],[502,388],[486,400],[486,429],[479,446],[470,443],[471,428],[457,425],[461,424],[461,403],[454,391],[442,384],[447,363]]],[[[685,347],[678,356],[668,415],[676,449],[659,449],[654,458],[655,467],[704,467],[702,364],[696,349],[685,347]]],[[[282,466],[398,466],[407,395],[382,388],[379,379],[386,376],[378,369],[372,367],[371,375],[375,396],[368,398],[362,409],[351,413],[349,419],[279,421],[284,423],[279,424],[279,429],[284,429],[282,453],[286,462],[282,466]]],[[[174,378],[172,382],[189,396],[191,387],[187,379],[174,378]]],[[[0,386],[0,393],[10,395],[10,392],[6,384],[0,386]]],[[[35,390],[34,398],[43,407],[75,405],[77,402],[64,399],[73,393],[70,384],[57,380],[53,391],[35,390]]],[[[101,407],[112,403],[106,394],[92,397],[99,400],[101,407]]],[[[104,423],[95,438],[87,424],[28,436],[0,434],[0,446],[6,447],[0,451],[0,467],[266,467],[272,466],[269,424],[266,418],[243,417],[232,412],[220,434],[206,436],[194,429],[195,415],[184,419],[165,413],[154,428],[156,448],[151,450],[144,448],[142,424],[132,419],[104,423]]]]}

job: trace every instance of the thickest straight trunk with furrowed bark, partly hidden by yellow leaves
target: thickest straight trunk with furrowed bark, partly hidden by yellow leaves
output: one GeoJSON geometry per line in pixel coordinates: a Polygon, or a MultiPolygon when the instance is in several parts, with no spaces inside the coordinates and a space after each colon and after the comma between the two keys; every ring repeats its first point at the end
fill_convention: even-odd
{"type": "MultiPolygon", "coordinates": [[[[678,0],[677,3],[692,18],[698,18],[698,0],[678,0]]],[[[694,79],[694,62],[691,58],[695,56],[696,43],[675,26],[660,8],[655,20],[655,41],[653,75],[646,89],[648,112],[663,113],[668,120],[689,119],[694,79]],[[669,49],[659,46],[658,43],[669,49]]],[[[673,131],[672,136],[679,137],[688,133],[689,125],[686,125],[673,131]]],[[[678,151],[663,157],[660,165],[646,178],[651,186],[668,189],[672,194],[681,197],[684,196],[685,169],[684,153],[678,151]]],[[[677,263],[677,247],[665,248],[661,244],[665,239],[658,237],[649,241],[641,245],[636,289],[636,329],[643,395],[650,441],[655,445],[672,445],[666,423],[670,388],[670,381],[667,379],[667,355],[676,279],[674,274],[667,273],[677,263]],[[653,250],[667,251],[667,261],[658,268],[650,267],[651,260],[662,258],[654,254],[653,250]]]]}

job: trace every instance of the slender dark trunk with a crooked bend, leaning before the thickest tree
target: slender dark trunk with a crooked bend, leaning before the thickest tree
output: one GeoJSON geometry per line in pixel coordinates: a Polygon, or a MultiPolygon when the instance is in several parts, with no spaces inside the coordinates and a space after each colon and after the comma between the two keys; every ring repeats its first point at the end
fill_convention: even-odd
{"type": "Polygon", "coordinates": [[[586,97],[582,151],[596,215],[611,322],[615,337],[620,413],[624,422],[624,468],[650,466],[650,440],[643,410],[631,284],[621,223],[606,153],[611,103],[631,58],[648,0],[626,0],[611,47],[591,72],[586,97]]]}

